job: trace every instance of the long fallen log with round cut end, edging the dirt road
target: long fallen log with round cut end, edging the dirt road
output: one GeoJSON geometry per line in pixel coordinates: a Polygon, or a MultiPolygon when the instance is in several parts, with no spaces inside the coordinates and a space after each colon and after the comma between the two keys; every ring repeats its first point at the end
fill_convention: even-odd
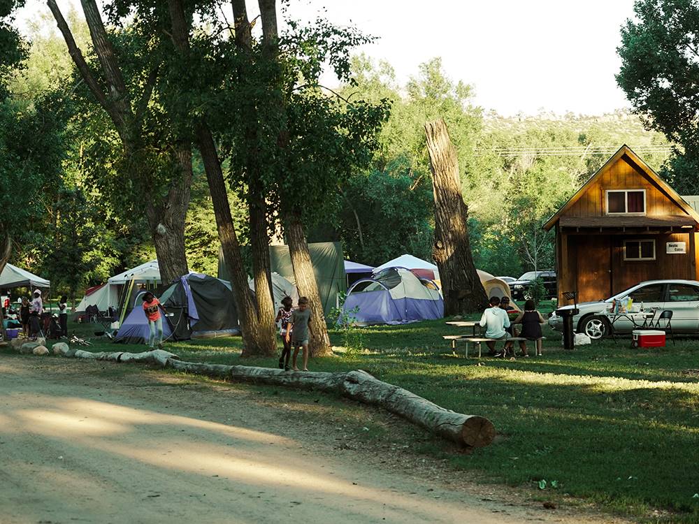
{"type": "Polygon", "coordinates": [[[168,367],[183,372],[252,384],[333,391],[347,398],[387,409],[462,446],[487,446],[495,438],[495,426],[488,419],[444,409],[406,389],[375,379],[366,371],[287,372],[269,367],[183,361],[168,361],[168,367]]]}

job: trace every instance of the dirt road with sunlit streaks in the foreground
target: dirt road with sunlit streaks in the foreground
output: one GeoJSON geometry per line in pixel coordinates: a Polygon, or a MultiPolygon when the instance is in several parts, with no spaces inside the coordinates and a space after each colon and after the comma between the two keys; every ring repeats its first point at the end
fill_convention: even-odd
{"type": "Polygon", "coordinates": [[[242,386],[0,355],[0,521],[606,521],[409,472],[401,451],[338,446],[337,419],[319,419],[242,386]]]}

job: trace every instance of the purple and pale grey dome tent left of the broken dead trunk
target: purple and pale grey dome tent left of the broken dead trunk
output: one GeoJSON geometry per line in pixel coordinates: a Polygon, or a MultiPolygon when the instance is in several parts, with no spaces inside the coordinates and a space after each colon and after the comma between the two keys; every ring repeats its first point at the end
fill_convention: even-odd
{"type": "Polygon", "coordinates": [[[444,316],[444,302],[432,280],[404,268],[387,268],[355,282],[343,315],[361,324],[401,324],[444,316]],[[353,312],[356,310],[356,312],[353,312]]]}

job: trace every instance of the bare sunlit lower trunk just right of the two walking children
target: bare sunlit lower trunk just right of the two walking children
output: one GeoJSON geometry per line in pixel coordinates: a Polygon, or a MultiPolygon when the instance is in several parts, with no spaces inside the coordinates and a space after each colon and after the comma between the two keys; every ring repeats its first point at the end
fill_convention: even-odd
{"type": "Polygon", "coordinates": [[[320,298],[313,264],[310,261],[308,242],[305,240],[301,219],[296,214],[287,216],[285,231],[289,242],[291,265],[294,266],[294,279],[296,279],[298,296],[305,296],[309,301],[310,329],[312,331],[312,337],[308,343],[310,354],[312,356],[332,354],[328,326],[325,323],[323,301],[320,298]]]}

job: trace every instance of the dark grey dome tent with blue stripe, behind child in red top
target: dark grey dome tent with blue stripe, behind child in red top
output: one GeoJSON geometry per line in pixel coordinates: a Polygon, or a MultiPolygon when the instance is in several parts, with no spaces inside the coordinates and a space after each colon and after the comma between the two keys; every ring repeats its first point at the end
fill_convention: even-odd
{"type": "Polygon", "coordinates": [[[240,334],[231,284],[225,280],[190,273],[175,280],[160,302],[173,313],[177,340],[240,334]]]}

